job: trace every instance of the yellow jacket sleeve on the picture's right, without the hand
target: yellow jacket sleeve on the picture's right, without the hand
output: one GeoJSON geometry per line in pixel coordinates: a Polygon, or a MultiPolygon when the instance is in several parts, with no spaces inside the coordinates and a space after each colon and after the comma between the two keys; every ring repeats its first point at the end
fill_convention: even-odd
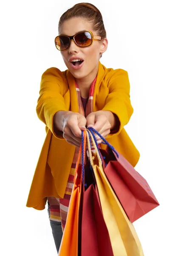
{"type": "Polygon", "coordinates": [[[112,72],[108,82],[109,94],[102,110],[111,111],[118,117],[119,127],[116,131],[111,131],[112,135],[113,133],[117,135],[129,122],[133,107],[130,102],[130,83],[127,71],[117,69],[112,72]]]}

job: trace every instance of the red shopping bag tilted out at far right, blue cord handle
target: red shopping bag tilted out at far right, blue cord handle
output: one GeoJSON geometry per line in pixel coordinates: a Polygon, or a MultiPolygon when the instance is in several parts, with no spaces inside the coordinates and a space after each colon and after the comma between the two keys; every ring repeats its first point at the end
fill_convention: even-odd
{"type": "MultiPolygon", "coordinates": [[[[95,130],[90,130],[94,135],[95,130]]],[[[100,152],[107,164],[104,172],[131,222],[159,206],[147,181],[112,145],[107,143],[106,150],[100,149],[100,152]]]]}

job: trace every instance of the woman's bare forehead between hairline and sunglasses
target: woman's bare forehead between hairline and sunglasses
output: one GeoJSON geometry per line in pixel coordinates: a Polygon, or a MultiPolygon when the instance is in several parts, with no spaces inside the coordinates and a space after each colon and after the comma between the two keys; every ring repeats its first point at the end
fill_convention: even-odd
{"type": "Polygon", "coordinates": [[[59,35],[71,36],[81,31],[94,32],[92,29],[92,23],[81,17],[74,17],[62,23],[62,26],[59,28],[59,35]]]}

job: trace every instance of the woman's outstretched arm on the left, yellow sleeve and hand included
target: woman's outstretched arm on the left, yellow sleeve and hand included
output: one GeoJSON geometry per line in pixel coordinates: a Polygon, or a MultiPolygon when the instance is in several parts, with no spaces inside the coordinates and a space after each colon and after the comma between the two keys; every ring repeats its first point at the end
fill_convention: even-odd
{"type": "Polygon", "coordinates": [[[42,74],[36,111],[39,119],[55,137],[79,146],[81,130],[85,129],[86,119],[81,114],[73,113],[66,108],[63,96],[67,90],[67,81],[60,70],[57,68],[46,70],[42,74]]]}

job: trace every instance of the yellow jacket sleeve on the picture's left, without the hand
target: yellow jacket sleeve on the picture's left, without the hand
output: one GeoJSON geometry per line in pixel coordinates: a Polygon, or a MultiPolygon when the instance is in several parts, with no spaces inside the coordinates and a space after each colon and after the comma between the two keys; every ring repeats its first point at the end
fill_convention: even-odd
{"type": "Polygon", "coordinates": [[[54,132],[53,117],[58,111],[66,111],[63,95],[67,90],[62,72],[51,67],[42,74],[40,96],[37,100],[37,116],[51,130],[55,137],[62,139],[62,132],[54,132]]]}

